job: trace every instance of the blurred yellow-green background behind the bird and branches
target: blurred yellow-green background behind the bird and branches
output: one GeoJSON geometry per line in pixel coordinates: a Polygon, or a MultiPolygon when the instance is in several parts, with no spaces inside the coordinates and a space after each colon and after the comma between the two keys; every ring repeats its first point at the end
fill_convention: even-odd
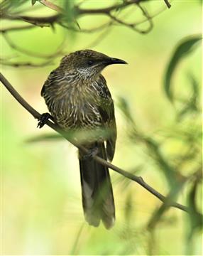
{"type": "MultiPolygon", "coordinates": [[[[84,8],[118,2],[86,1],[84,8]]],[[[65,139],[33,142],[38,136],[54,132],[49,127],[36,129],[37,120],[1,86],[3,255],[202,255],[201,230],[198,223],[196,226],[192,222],[202,208],[202,189],[195,178],[201,169],[200,47],[191,50],[177,65],[171,85],[173,102],[164,90],[165,71],[175,48],[182,38],[202,31],[201,1],[171,1],[170,9],[161,0],[141,4],[148,14],[161,11],[153,18],[152,31],[146,34],[121,24],[105,33],[76,33],[56,25],[54,29],[33,28],[6,34],[18,47],[33,53],[50,55],[66,38],[64,53],[92,48],[126,60],[128,65],[109,66],[103,72],[116,105],[118,141],[113,164],[142,176],[164,195],[174,189],[172,183],[177,178],[184,186],[180,186],[175,200],[191,207],[195,204],[192,209],[196,212],[189,217],[182,210],[170,208],[150,230],[148,223],[161,202],[111,170],[116,223],[111,230],[102,225],[90,227],[84,223],[82,212],[77,149],[65,139]],[[191,97],[195,106],[188,107],[191,97]],[[193,192],[197,193],[195,198],[193,192]]],[[[31,1],[25,1],[12,8],[20,14],[27,9],[24,14],[33,16],[55,14],[39,2],[31,6],[31,1]]],[[[127,17],[135,16],[138,21],[143,18],[136,7],[127,17]]],[[[104,21],[105,16],[94,15],[77,19],[82,28],[104,21]]],[[[1,22],[1,28],[20,25],[20,21],[1,22]]],[[[145,26],[146,23],[141,24],[141,28],[145,26]]],[[[11,63],[45,62],[11,48],[2,33],[1,57],[11,63]]],[[[38,68],[2,65],[1,72],[43,113],[47,107],[40,90],[61,57],[56,55],[48,65],[38,68]]]]}

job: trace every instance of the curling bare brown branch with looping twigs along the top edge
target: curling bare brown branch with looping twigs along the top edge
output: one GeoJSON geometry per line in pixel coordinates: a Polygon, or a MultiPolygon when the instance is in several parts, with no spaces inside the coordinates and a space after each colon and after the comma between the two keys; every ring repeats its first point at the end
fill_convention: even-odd
{"type": "MultiPolygon", "coordinates": [[[[104,23],[103,25],[98,26],[96,28],[89,28],[89,29],[80,29],[80,27],[79,27],[79,29],[77,29],[77,28],[75,28],[75,26],[72,25],[72,23],[67,24],[65,21],[65,16],[64,16],[66,14],[65,10],[62,9],[60,6],[53,4],[49,0],[40,0],[39,2],[40,2],[40,4],[45,5],[49,9],[53,9],[53,10],[57,11],[57,14],[55,14],[53,16],[47,16],[47,17],[17,16],[16,14],[14,15],[14,14],[4,13],[4,14],[2,14],[2,18],[9,19],[9,20],[25,21],[27,23],[31,23],[35,26],[40,26],[40,27],[54,26],[55,24],[59,24],[60,26],[63,26],[64,28],[67,28],[69,30],[76,31],[76,32],[84,32],[84,33],[92,33],[92,32],[98,31],[99,29],[103,29],[104,27],[109,26],[109,23],[111,23],[111,25],[115,25],[116,23],[118,23],[118,24],[121,24],[128,28],[131,28],[131,29],[133,29],[133,31],[136,31],[138,33],[148,33],[153,28],[153,22],[152,22],[153,16],[150,16],[148,14],[148,12],[145,9],[143,9],[142,6],[140,6],[140,3],[142,1],[143,0],[123,1],[123,3],[121,3],[121,4],[114,4],[113,6],[109,6],[106,8],[100,8],[100,9],[82,9],[79,4],[78,5],[75,4],[75,6],[72,7],[72,10],[70,12],[74,15],[74,16],[72,16],[72,22],[76,23],[78,27],[79,27],[79,24],[77,23],[76,18],[78,18],[80,16],[100,14],[100,15],[109,16],[109,18],[111,18],[111,21],[104,23]],[[143,15],[146,17],[146,19],[144,21],[134,22],[134,23],[126,23],[121,18],[117,17],[119,14],[118,11],[122,11],[123,9],[126,9],[126,7],[133,6],[133,5],[137,5],[138,8],[141,9],[141,11],[143,12],[143,15]],[[114,12],[114,14],[113,14],[113,12],[114,12]],[[115,12],[116,12],[116,14],[115,14],[115,12]],[[141,30],[141,29],[137,28],[137,26],[139,24],[144,23],[146,21],[149,22],[149,28],[147,28],[145,30],[141,30]]],[[[168,3],[168,0],[165,0],[165,1],[166,1],[166,3],[168,3]]],[[[5,31],[4,29],[3,30],[1,29],[1,32],[4,32],[4,31],[5,31]]]]}

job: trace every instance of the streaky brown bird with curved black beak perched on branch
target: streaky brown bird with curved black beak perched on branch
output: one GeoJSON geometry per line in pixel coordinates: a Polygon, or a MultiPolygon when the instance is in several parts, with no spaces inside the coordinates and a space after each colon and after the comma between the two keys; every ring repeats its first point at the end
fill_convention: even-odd
{"type": "Polygon", "coordinates": [[[97,154],[111,161],[116,144],[114,102],[101,71],[111,64],[126,64],[124,60],[110,58],[94,50],[78,50],[62,58],[60,66],[50,73],[41,95],[45,98],[50,114],[42,115],[39,127],[45,119],[52,118],[65,131],[99,129],[108,132],[95,133],[93,139],[82,140],[89,150],[79,150],[79,169],[82,184],[82,206],[89,225],[97,227],[100,220],[109,229],[114,225],[114,196],[106,166],[94,161],[97,154]]]}

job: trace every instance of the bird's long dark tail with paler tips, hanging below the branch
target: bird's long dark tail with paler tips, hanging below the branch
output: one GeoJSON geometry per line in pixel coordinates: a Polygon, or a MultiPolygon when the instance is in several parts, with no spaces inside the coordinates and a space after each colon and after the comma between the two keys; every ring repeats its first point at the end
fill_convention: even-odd
{"type": "MultiPolygon", "coordinates": [[[[106,159],[104,142],[98,142],[94,146],[99,149],[97,155],[106,159]]],[[[109,229],[115,221],[114,195],[109,169],[92,159],[82,159],[80,151],[79,156],[82,206],[85,219],[89,225],[95,227],[99,226],[100,220],[102,220],[104,226],[109,229]]]]}

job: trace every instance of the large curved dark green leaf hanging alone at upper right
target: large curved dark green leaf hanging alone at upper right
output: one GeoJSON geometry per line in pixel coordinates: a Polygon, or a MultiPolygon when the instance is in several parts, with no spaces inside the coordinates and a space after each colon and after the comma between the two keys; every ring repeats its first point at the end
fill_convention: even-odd
{"type": "Polygon", "coordinates": [[[194,50],[194,46],[197,46],[197,42],[202,39],[202,35],[194,35],[188,36],[187,38],[183,38],[180,43],[175,47],[174,53],[170,58],[168,63],[168,67],[166,68],[165,78],[164,78],[164,90],[168,99],[172,102],[173,95],[171,90],[172,85],[172,76],[177,68],[178,63],[185,58],[189,53],[194,50]]]}

